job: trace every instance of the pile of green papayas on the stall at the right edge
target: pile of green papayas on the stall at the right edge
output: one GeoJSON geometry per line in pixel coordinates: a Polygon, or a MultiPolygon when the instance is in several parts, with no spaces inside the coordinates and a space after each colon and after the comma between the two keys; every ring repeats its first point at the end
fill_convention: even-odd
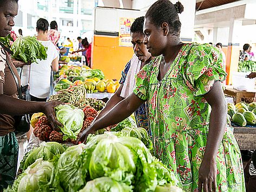
{"type": "Polygon", "coordinates": [[[256,127],[256,102],[249,103],[228,103],[227,124],[231,122],[245,127],[251,125],[256,127]]]}

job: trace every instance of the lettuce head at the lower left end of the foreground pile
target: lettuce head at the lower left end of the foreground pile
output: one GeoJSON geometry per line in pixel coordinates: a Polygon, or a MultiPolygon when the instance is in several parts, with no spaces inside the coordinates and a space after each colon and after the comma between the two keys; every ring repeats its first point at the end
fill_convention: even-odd
{"type": "Polygon", "coordinates": [[[43,161],[42,158],[37,159],[15,180],[12,188],[8,188],[7,192],[34,192],[34,191],[50,191],[54,178],[54,166],[52,163],[43,161]]]}

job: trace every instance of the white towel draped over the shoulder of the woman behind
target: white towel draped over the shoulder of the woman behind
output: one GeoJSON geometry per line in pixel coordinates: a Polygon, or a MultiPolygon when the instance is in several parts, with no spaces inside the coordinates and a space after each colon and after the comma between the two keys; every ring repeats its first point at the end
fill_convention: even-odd
{"type": "Polygon", "coordinates": [[[127,72],[123,89],[121,90],[121,97],[126,98],[133,92],[133,89],[135,88],[136,84],[135,75],[139,72],[141,64],[142,62],[140,62],[138,57],[135,54],[133,54],[131,58],[130,69],[127,72]]]}

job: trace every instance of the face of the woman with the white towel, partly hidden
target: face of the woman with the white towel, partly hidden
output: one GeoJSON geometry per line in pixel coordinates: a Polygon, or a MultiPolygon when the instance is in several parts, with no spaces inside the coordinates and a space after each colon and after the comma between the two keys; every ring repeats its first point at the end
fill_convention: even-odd
{"type": "Polygon", "coordinates": [[[144,34],[140,32],[132,32],[132,45],[135,55],[138,57],[139,61],[145,62],[150,58],[150,53],[146,49],[146,45],[143,44],[144,34]]]}

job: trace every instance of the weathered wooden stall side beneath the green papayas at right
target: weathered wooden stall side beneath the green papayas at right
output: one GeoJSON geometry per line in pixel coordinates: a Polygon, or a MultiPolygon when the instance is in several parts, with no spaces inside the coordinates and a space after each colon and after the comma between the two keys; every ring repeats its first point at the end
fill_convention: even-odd
{"type": "Polygon", "coordinates": [[[240,150],[256,149],[256,128],[234,127],[234,136],[240,150]]]}

